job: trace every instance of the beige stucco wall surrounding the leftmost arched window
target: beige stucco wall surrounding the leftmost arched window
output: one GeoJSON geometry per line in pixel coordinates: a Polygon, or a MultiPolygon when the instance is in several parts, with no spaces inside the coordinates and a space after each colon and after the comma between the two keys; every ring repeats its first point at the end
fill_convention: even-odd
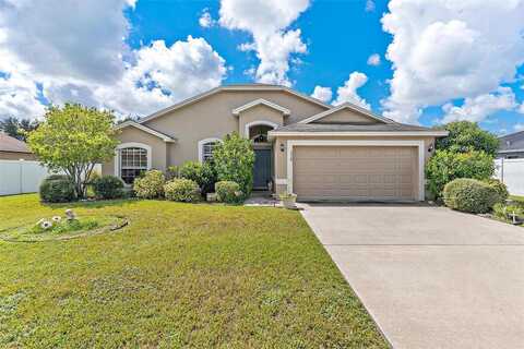
{"type": "MultiPolygon", "coordinates": [[[[151,146],[152,161],[151,166],[153,169],[158,169],[165,171],[168,167],[167,165],[167,155],[169,143],[165,143],[163,140],[139,130],[133,127],[128,127],[120,130],[120,134],[117,135],[117,139],[120,143],[143,143],[151,146]]],[[[102,174],[115,174],[115,159],[111,158],[109,161],[102,165],[102,174]]]]}

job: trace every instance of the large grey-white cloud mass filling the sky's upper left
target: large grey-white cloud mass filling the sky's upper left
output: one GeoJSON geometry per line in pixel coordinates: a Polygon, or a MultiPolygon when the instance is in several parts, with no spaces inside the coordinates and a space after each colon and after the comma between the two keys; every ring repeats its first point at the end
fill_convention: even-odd
{"type": "Polygon", "coordinates": [[[52,1],[0,0],[0,118],[41,115],[37,84],[53,104],[147,115],[219,85],[227,73],[203,38],[127,47],[122,11],[134,0],[52,1]]]}

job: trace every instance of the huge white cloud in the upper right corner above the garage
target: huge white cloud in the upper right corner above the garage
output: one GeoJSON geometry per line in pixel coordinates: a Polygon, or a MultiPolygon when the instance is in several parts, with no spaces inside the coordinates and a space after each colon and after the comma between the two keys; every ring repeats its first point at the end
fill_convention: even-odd
{"type": "Polygon", "coordinates": [[[385,116],[416,122],[420,108],[476,98],[512,81],[524,61],[524,0],[392,0],[385,116]]]}

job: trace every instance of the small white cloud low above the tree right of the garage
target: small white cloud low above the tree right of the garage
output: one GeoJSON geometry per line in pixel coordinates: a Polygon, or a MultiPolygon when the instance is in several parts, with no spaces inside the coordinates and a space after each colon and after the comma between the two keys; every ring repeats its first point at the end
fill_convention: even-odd
{"type": "Polygon", "coordinates": [[[493,94],[466,98],[461,107],[445,104],[442,107],[442,110],[445,112],[443,122],[457,120],[480,122],[497,111],[514,110],[516,107],[517,104],[513,91],[509,87],[499,87],[493,94]]]}

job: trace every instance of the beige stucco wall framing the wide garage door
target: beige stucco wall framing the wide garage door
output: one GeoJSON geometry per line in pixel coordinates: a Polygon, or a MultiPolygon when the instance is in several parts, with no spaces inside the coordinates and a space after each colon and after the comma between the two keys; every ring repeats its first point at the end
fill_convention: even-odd
{"type": "Polygon", "coordinates": [[[274,161],[275,161],[275,183],[276,183],[276,193],[284,193],[287,191],[287,151],[288,145],[287,141],[296,141],[296,140],[329,140],[329,141],[349,141],[349,140],[359,140],[359,141],[424,141],[425,147],[425,164],[429,160],[431,155],[433,154],[433,149],[428,152],[428,148],[434,148],[434,137],[417,137],[417,136],[279,136],[276,137],[273,152],[274,152],[274,161]],[[284,152],[281,152],[281,145],[284,145],[284,152]]]}

